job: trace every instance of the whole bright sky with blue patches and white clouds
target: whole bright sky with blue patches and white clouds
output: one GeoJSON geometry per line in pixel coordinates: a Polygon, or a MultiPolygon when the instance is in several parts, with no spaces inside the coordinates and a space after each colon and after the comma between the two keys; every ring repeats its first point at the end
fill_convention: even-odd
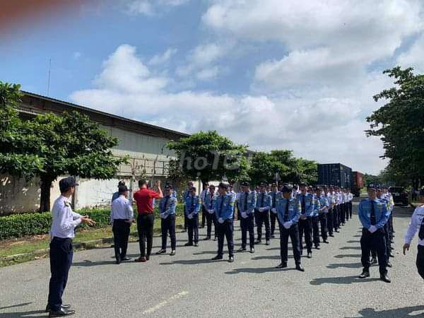
{"type": "Polygon", "coordinates": [[[424,71],[420,1],[120,0],[1,36],[2,81],[170,129],[377,173],[382,71],[424,71]]]}

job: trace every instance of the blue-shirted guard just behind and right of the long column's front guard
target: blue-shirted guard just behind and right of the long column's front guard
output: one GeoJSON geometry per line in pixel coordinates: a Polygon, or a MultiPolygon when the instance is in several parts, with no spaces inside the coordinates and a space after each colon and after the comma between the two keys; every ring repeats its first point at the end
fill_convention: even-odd
{"type": "Polygon", "coordinates": [[[303,235],[305,234],[305,242],[307,247],[307,258],[312,258],[312,215],[314,214],[314,196],[307,193],[306,184],[300,184],[300,194],[296,196],[300,202],[300,220],[299,220],[299,242],[300,254],[303,251],[303,235]]]}

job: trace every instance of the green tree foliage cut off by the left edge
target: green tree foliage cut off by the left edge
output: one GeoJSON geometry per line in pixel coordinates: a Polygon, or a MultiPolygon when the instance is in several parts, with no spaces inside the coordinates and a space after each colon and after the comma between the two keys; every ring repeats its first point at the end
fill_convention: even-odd
{"type": "Polygon", "coordinates": [[[20,97],[18,84],[0,81],[0,172],[31,179],[42,170],[42,159],[33,154],[40,144],[18,117],[20,97]]]}

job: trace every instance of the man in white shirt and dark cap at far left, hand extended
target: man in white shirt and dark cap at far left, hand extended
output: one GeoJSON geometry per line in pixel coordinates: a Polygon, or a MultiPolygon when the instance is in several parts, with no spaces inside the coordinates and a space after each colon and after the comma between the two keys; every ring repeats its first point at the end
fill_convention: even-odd
{"type": "Polygon", "coordinates": [[[49,252],[52,276],[49,281],[49,298],[46,307],[46,312],[50,312],[49,317],[75,314],[75,310],[69,310],[70,305],[62,305],[62,296],[72,264],[72,239],[75,236],[75,228],[81,223],[95,224],[88,216],[81,216],[72,211],[69,199],[77,185],[73,177],[61,179],[59,181],[61,195],[54,201],[52,208],[52,229],[50,230],[52,240],[49,252]]]}

